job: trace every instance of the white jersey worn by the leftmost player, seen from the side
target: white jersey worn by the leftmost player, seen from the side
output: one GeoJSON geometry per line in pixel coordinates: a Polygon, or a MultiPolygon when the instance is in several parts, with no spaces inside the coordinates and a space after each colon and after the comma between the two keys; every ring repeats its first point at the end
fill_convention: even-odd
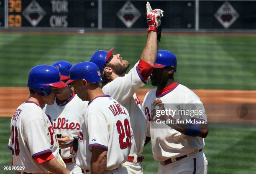
{"type": "Polygon", "coordinates": [[[39,156],[52,153],[50,159],[59,156],[59,144],[44,111],[36,103],[26,101],[15,111],[11,119],[11,136],[8,148],[13,152],[13,165],[25,166],[27,173],[46,171],[39,163],[39,156]]]}

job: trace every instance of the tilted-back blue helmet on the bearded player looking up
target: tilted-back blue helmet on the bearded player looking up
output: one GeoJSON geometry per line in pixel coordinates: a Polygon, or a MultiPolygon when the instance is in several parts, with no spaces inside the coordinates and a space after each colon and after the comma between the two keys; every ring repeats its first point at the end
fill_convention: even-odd
{"type": "Polygon", "coordinates": [[[95,63],[99,67],[100,73],[103,72],[104,65],[113,54],[113,51],[114,48],[111,48],[111,50],[109,50],[108,52],[103,50],[97,50],[95,53],[93,53],[90,62],[95,63]]]}

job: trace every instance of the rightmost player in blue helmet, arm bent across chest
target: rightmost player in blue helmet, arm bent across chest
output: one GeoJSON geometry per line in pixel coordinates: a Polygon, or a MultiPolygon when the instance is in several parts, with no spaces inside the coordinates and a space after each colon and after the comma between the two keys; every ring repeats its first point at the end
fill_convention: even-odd
{"type": "MultiPolygon", "coordinates": [[[[179,127],[170,124],[168,129],[155,129],[151,112],[151,103],[155,106],[166,106],[163,103],[175,103],[182,108],[183,103],[198,103],[200,98],[189,88],[174,81],[174,72],[177,70],[177,61],[173,53],[159,50],[157,54],[151,83],[157,86],[149,91],[143,101],[142,107],[148,119],[148,136],[151,137],[152,153],[154,159],[159,161],[158,174],[204,174],[204,139],[208,129],[202,124],[187,124],[179,127]]],[[[202,106],[203,107],[203,106],[202,106]]],[[[194,121],[207,121],[205,110],[202,114],[194,116],[194,121]]],[[[172,117],[171,117],[172,118],[172,117]]]]}

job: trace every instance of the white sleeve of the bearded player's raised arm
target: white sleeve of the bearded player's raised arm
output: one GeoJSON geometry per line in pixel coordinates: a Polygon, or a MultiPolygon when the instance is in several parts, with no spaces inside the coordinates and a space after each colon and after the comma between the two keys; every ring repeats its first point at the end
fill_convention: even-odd
{"type": "Polygon", "coordinates": [[[138,66],[133,67],[124,77],[115,78],[111,83],[102,88],[106,95],[115,98],[120,104],[131,99],[133,94],[145,84],[138,66]]]}

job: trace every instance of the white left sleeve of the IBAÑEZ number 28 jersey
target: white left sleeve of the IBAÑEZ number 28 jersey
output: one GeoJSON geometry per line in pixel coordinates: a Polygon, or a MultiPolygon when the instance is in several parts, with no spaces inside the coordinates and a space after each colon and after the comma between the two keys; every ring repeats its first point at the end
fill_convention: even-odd
{"type": "Polygon", "coordinates": [[[108,123],[103,115],[90,113],[87,117],[89,150],[92,146],[100,146],[108,149],[108,123]]]}

